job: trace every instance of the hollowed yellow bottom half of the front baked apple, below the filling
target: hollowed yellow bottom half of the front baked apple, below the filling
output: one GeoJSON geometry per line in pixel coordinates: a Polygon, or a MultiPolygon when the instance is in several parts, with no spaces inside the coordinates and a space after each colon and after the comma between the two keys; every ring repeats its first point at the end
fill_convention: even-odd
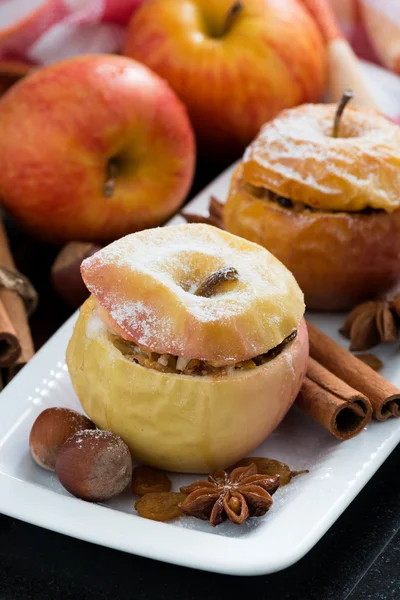
{"type": "Polygon", "coordinates": [[[209,473],[248,456],[279,425],[299,392],[308,333],[262,366],[222,378],[160,373],[127,360],[83,304],[67,349],[74,390],[100,429],[122,437],[135,460],[209,473]]]}

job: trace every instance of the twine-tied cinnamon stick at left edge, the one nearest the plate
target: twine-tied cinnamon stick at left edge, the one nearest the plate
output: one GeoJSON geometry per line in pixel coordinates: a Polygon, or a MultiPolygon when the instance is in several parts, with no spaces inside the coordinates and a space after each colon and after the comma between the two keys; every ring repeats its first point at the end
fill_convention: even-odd
{"type": "MultiPolygon", "coordinates": [[[[0,265],[8,267],[10,269],[15,269],[15,263],[10,251],[6,231],[1,219],[0,265]]],[[[19,356],[17,356],[16,359],[12,362],[16,362],[17,364],[25,364],[30,358],[32,358],[34,354],[34,348],[24,302],[22,298],[20,298],[20,296],[15,292],[6,290],[4,288],[0,288],[0,305],[3,306],[5,312],[8,315],[9,321],[12,323],[14,333],[16,334],[20,345],[19,356]]],[[[12,362],[8,364],[12,364],[12,362]]],[[[5,366],[5,364],[2,364],[2,366],[5,366]]]]}

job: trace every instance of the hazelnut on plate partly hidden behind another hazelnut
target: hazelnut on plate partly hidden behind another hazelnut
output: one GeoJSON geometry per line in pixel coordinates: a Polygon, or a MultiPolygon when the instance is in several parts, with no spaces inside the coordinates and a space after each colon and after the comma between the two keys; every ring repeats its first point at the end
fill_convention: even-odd
{"type": "Polygon", "coordinates": [[[76,410],[47,408],[34,422],[29,436],[33,460],[43,469],[55,471],[61,446],[72,434],[82,429],[96,429],[96,425],[76,410]]]}

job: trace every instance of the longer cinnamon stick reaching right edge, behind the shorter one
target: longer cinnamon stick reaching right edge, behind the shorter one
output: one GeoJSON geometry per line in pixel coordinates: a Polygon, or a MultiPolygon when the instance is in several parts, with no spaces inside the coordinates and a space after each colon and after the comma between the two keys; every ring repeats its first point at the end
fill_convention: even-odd
{"type": "Polygon", "coordinates": [[[307,322],[310,356],[349,386],[366,396],[378,421],[400,417],[400,390],[379,373],[307,322]]]}

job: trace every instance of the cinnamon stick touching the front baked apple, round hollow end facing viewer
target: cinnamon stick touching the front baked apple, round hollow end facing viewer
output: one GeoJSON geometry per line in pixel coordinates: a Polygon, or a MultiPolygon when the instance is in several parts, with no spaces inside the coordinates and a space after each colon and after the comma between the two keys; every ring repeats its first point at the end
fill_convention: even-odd
{"type": "Polygon", "coordinates": [[[309,359],[296,403],[339,440],[360,433],[372,417],[368,398],[313,358],[309,359]]]}

